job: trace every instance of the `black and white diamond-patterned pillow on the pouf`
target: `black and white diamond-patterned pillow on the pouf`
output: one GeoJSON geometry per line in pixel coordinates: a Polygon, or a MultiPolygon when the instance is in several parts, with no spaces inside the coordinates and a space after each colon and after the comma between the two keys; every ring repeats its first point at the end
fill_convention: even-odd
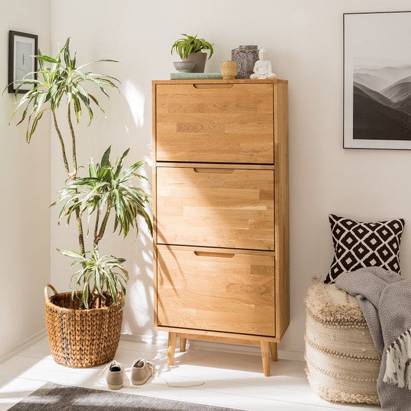
{"type": "Polygon", "coordinates": [[[325,283],[333,283],[345,271],[378,266],[401,274],[399,245],[403,219],[361,223],[329,214],[334,258],[325,283]]]}

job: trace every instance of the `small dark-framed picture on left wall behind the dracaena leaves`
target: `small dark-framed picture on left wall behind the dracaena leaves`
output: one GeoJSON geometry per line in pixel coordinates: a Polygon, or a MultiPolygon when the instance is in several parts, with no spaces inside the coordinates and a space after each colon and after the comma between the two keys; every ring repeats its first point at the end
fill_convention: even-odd
{"type": "Polygon", "coordinates": [[[21,80],[36,79],[37,42],[36,34],[9,31],[8,92],[25,93],[34,87],[33,84],[21,85],[21,80]]]}

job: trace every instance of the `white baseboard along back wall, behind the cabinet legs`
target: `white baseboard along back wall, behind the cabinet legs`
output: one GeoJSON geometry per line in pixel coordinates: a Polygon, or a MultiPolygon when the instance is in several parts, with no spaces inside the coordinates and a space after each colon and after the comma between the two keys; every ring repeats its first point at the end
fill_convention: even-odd
{"type": "MultiPolygon", "coordinates": [[[[166,346],[168,341],[168,334],[166,332],[162,332],[162,334],[159,336],[121,334],[121,340],[132,341],[134,343],[145,343],[166,346]]],[[[206,351],[220,351],[225,353],[239,353],[248,356],[261,356],[261,350],[258,345],[216,343],[214,341],[205,340],[187,340],[187,344],[189,347],[193,349],[203,349],[206,351]]],[[[286,351],[279,349],[278,358],[280,360],[304,361],[304,353],[301,353],[299,351],[286,351]]]]}

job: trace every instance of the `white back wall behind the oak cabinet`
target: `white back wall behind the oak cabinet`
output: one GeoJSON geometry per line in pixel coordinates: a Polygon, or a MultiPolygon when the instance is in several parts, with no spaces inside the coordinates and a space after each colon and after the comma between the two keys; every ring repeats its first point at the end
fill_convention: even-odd
{"type": "MultiPolygon", "coordinates": [[[[303,351],[303,297],[313,275],[325,277],[332,259],[328,214],[360,220],[406,219],[402,268],[411,277],[410,151],[343,149],[343,13],[408,10],[408,0],[65,0],[51,2],[51,47],[71,36],[78,62],[114,58],[102,66],[122,81],[121,95],[103,101],[108,119],[96,112],[79,136],[86,155],[100,155],[111,142],[130,158],[144,158],[151,175],[151,80],[173,71],[171,45],[180,33],[214,42],[206,71],[219,71],[238,45],[254,44],[269,52],[275,73],[289,80],[290,95],[290,289],[291,323],[280,349],[303,351]],[[81,12],[80,12],[81,11],[81,12]]],[[[60,151],[51,145],[51,192],[60,151]]],[[[63,177],[64,178],[64,177],[63,177]]],[[[53,251],[69,247],[74,236],[51,219],[51,281],[68,288],[68,262],[53,251]]],[[[151,242],[142,236],[123,242],[116,235],[105,251],[127,258],[131,275],[124,332],[145,336],[152,330],[151,242]]]]}

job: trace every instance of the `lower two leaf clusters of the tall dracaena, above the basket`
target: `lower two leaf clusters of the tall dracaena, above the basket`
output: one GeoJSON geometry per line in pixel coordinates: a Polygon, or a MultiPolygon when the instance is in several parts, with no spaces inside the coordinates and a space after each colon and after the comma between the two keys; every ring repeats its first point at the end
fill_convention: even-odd
{"type": "Polygon", "coordinates": [[[120,160],[112,164],[110,149],[111,147],[105,151],[101,162],[97,164],[90,158],[88,177],[70,179],[60,190],[58,200],[53,203],[64,203],[59,221],[66,218],[67,223],[70,223],[73,214],[77,218],[77,212],[80,218],[86,215],[88,223],[90,217],[94,216],[92,251],[86,252],[88,257],[75,251],[59,250],[64,256],[75,258],[73,266],[81,265],[73,275],[73,296],[77,288],[81,288],[86,308],[90,300],[96,300],[98,306],[104,290],[110,292],[114,303],[117,302],[118,290],[125,294],[128,275],[121,265],[125,260],[114,256],[99,256],[98,245],[105,233],[110,213],[114,212],[114,231],[118,230],[124,237],[132,227],[138,233],[138,216],[145,220],[150,232],[153,232],[151,219],[146,210],[149,195],[142,188],[127,184],[133,177],[145,179],[137,173],[144,163],[136,162],[123,170],[124,159],[129,150],[127,149],[120,160]],[[93,289],[90,289],[90,284],[94,285],[93,289]]]}

